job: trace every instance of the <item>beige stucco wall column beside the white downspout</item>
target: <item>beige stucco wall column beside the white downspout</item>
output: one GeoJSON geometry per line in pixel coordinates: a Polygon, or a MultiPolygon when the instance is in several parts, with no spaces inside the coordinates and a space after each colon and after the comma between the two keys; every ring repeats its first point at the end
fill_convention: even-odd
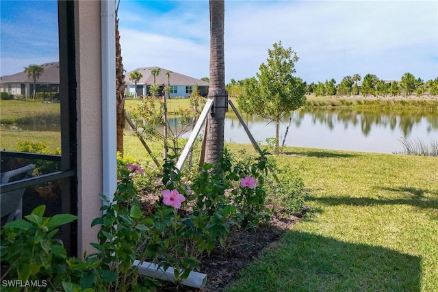
{"type": "Polygon", "coordinates": [[[78,256],[92,250],[102,201],[101,2],[75,1],[78,256]]]}

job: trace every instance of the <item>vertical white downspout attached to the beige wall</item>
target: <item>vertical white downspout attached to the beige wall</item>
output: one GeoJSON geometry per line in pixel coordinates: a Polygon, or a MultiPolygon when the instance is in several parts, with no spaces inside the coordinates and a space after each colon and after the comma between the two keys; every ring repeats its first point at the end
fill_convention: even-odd
{"type": "Polygon", "coordinates": [[[117,188],[116,3],[101,1],[102,192],[108,200],[117,188]]]}

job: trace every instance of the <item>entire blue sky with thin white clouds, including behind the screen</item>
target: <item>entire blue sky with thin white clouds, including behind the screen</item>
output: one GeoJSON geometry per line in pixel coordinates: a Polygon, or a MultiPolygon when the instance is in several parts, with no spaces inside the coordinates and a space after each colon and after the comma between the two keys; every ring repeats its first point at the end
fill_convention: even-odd
{"type": "MultiPolygon", "coordinates": [[[[53,28],[44,21],[56,13],[49,8],[53,1],[21,4],[23,1],[0,2],[1,75],[57,59],[53,51],[57,37],[51,36],[53,28]],[[38,16],[38,25],[22,28],[27,16],[16,14],[24,10],[8,6],[30,9],[29,5],[29,11],[38,16]],[[42,40],[39,36],[46,37],[42,40]],[[22,40],[31,44],[23,46],[22,40]],[[40,49],[34,50],[34,46],[40,49]]],[[[159,66],[192,77],[208,77],[207,0],[122,0],[119,16],[127,71],[159,66]]],[[[339,83],[342,77],[355,73],[399,80],[411,72],[424,80],[435,79],[438,2],[226,0],[226,81],[255,76],[268,49],[279,40],[283,47],[296,51],[300,57],[296,76],[307,82],[335,78],[339,83]]]]}

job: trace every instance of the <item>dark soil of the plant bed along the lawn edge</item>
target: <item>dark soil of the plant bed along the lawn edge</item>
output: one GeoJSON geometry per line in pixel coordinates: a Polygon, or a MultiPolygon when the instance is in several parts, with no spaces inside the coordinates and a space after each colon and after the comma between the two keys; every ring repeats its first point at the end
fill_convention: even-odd
{"type": "MultiPolygon", "coordinates": [[[[156,197],[144,196],[142,207],[146,209],[151,202],[156,202],[156,197]]],[[[257,230],[239,230],[232,236],[227,248],[215,248],[208,256],[201,260],[201,270],[199,272],[207,274],[207,284],[203,289],[192,287],[175,286],[175,284],[164,282],[159,291],[182,291],[182,292],[220,292],[224,287],[234,280],[237,272],[248,263],[257,259],[257,255],[263,249],[272,248],[281,239],[291,226],[296,224],[300,217],[305,214],[307,207],[302,211],[281,217],[271,215],[269,222],[261,224],[257,230]]]]}

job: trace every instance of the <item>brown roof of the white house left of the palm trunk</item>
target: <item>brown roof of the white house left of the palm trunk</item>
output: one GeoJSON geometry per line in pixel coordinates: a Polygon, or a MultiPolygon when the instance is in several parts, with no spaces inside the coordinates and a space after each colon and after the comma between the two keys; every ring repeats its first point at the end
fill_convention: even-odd
{"type": "MultiPolygon", "coordinates": [[[[133,84],[134,82],[129,80],[129,75],[134,72],[138,71],[142,73],[143,77],[140,78],[140,81],[138,81],[137,84],[153,84],[153,75],[152,75],[152,69],[159,68],[159,67],[140,67],[135,70],[129,71],[125,73],[125,82],[127,84],[133,84]]],[[[168,77],[166,76],[166,72],[170,72],[170,84],[171,85],[194,85],[198,84],[199,86],[208,86],[209,83],[207,81],[203,81],[201,79],[196,79],[187,75],[183,75],[178,72],[173,72],[172,70],[167,70],[164,68],[160,68],[159,74],[155,77],[155,82],[157,84],[168,84],[168,77]]]]}

